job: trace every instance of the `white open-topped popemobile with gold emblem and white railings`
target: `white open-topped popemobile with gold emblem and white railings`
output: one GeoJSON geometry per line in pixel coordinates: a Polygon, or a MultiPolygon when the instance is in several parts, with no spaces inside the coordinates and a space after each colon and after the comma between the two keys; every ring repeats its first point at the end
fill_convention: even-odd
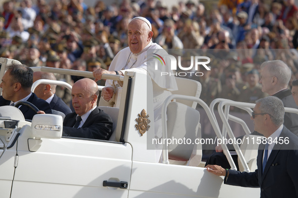
{"type": "MultiPolygon", "coordinates": [[[[18,62],[0,58],[0,79],[5,73],[5,65],[12,61],[18,62]]],[[[91,72],[46,67],[32,69],[92,77],[91,72]]],[[[166,140],[165,143],[175,139],[187,140],[191,144],[164,144],[163,161],[156,163],[152,145],[154,113],[151,80],[143,74],[132,72],[127,72],[124,77],[103,75],[103,78],[124,82],[120,108],[100,107],[114,122],[109,141],[62,137],[63,116],[57,115],[57,112],[36,114],[31,121],[25,120],[22,112],[14,106],[0,107],[0,197],[260,196],[259,188],[225,185],[223,177],[203,168],[202,145],[193,144],[201,138],[197,103],[205,109],[218,139],[226,132],[233,137],[226,117],[243,124],[247,134],[250,131],[244,122],[228,116],[228,112],[220,111],[221,118],[226,120],[226,130],[223,129],[221,133],[213,110],[199,99],[201,85],[198,82],[177,78],[179,90],[167,98],[162,114],[162,140],[166,140]],[[170,102],[172,99],[175,102],[170,102]]],[[[41,81],[35,82],[32,90],[41,81]]],[[[71,89],[70,85],[66,87],[71,89]]],[[[239,105],[249,113],[254,107],[254,104],[220,99],[213,101],[211,106],[217,102],[220,102],[220,107],[239,105]]],[[[243,170],[255,170],[254,150],[243,155],[239,146],[234,146],[241,164],[244,164],[243,170]]],[[[222,147],[230,164],[235,167],[226,145],[222,144],[222,147]]]]}

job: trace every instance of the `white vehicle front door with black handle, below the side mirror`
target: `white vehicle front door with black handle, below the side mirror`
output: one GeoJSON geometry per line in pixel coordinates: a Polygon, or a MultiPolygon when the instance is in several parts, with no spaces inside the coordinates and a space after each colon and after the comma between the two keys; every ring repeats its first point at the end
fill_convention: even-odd
{"type": "Polygon", "coordinates": [[[20,136],[18,155],[11,198],[128,197],[130,144],[42,139],[41,147],[30,152],[28,141],[20,136]],[[121,187],[109,187],[114,185],[121,187]]]}

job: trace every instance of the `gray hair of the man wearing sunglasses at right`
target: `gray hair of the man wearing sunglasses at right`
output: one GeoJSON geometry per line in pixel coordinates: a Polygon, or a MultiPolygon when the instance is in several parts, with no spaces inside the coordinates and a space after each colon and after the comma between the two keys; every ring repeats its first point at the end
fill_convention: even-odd
{"type": "Polygon", "coordinates": [[[279,98],[275,96],[268,96],[257,100],[256,103],[260,104],[259,109],[261,113],[270,114],[272,122],[276,126],[283,124],[284,106],[279,98]]]}

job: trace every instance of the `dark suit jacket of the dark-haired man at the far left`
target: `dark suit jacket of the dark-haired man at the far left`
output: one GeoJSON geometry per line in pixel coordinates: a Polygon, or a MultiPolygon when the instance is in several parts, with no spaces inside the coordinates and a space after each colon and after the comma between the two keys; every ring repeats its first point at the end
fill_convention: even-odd
{"type": "MultiPolygon", "coordinates": [[[[27,101],[34,104],[39,110],[42,110],[45,113],[52,113],[50,105],[45,100],[38,98],[34,93],[32,93],[27,101]]],[[[10,102],[10,100],[6,100],[0,96],[0,106],[10,105],[10,102]]],[[[33,116],[36,114],[35,111],[25,105],[22,105],[19,109],[22,111],[25,119],[32,120],[33,116]]]]}

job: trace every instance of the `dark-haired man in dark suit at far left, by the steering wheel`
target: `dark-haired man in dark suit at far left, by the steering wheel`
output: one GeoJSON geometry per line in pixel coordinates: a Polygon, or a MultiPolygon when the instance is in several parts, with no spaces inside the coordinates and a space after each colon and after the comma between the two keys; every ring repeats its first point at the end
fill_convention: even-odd
{"type": "MultiPolygon", "coordinates": [[[[32,84],[32,69],[24,64],[13,63],[8,65],[7,72],[4,74],[0,84],[2,88],[0,106],[15,105],[18,102],[27,101],[35,105],[39,110],[51,113],[49,104],[31,92],[32,84]]],[[[25,105],[21,105],[19,109],[22,111],[25,119],[32,120],[36,114],[34,110],[25,105]]]]}

